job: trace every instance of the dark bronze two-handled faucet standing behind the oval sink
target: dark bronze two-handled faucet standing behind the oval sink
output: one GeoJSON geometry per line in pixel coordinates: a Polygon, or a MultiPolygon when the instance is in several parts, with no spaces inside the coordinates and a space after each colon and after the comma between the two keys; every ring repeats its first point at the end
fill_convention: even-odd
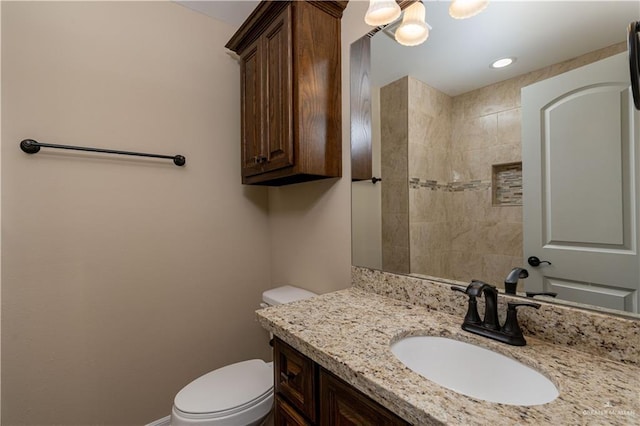
{"type": "Polygon", "coordinates": [[[527,344],[522,330],[518,324],[516,309],[518,306],[540,308],[538,303],[507,303],[507,318],[504,325],[500,326],[498,320],[498,290],[482,281],[471,281],[467,288],[451,286],[451,290],[465,293],[469,296],[469,307],[462,322],[462,329],[470,333],[498,340],[508,345],[524,346],[527,344]],[[484,295],[484,319],[480,320],[478,314],[477,298],[484,295]]]}

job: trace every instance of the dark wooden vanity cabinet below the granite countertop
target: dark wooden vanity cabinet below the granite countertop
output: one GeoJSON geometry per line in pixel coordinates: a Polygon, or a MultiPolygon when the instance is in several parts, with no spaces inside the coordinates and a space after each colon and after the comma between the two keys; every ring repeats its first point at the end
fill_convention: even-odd
{"type": "Polygon", "coordinates": [[[278,338],[273,353],[275,426],[409,424],[278,338]]]}

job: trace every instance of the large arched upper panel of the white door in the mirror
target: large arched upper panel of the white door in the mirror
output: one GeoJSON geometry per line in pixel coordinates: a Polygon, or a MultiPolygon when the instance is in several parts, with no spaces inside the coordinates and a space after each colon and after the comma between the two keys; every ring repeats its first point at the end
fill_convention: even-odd
{"type": "Polygon", "coordinates": [[[629,197],[628,189],[622,191],[629,139],[620,137],[626,92],[617,84],[587,87],[543,108],[546,244],[622,248],[623,197],[629,197]],[[598,120],[574,124],[585,117],[598,120]],[[590,208],[576,199],[588,199],[590,208]]]}

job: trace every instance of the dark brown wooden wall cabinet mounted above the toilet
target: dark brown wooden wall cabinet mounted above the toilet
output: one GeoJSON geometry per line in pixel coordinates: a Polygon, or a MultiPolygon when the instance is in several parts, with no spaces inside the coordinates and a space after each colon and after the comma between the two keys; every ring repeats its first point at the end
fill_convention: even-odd
{"type": "Polygon", "coordinates": [[[342,173],[346,1],[262,1],[226,47],[240,56],[242,183],[342,173]]]}

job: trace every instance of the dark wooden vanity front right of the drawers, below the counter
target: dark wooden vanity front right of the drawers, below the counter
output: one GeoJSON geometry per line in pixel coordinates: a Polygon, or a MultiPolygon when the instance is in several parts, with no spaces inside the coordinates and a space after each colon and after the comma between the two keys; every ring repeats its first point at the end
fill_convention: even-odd
{"type": "Polygon", "coordinates": [[[320,425],[391,426],[409,423],[333,374],[320,371],[320,425]]]}

